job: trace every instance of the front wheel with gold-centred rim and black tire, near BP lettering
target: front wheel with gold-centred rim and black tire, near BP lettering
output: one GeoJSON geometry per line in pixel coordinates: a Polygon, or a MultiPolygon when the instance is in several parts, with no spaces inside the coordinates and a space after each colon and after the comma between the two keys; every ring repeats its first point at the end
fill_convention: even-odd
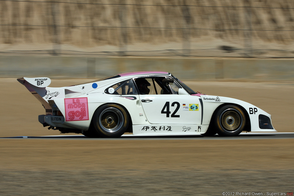
{"type": "Polygon", "coordinates": [[[218,135],[237,136],[244,130],[246,118],[238,106],[224,105],[214,115],[213,123],[218,135]]]}

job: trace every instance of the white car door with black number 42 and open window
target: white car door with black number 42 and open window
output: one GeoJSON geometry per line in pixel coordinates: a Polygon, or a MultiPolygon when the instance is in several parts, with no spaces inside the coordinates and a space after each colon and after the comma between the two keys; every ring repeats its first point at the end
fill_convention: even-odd
{"type": "Polygon", "coordinates": [[[148,82],[146,86],[149,90],[147,91],[144,85],[138,84],[136,80],[135,82],[141,86],[139,98],[149,123],[201,124],[203,108],[200,97],[178,95],[179,86],[176,83],[162,82],[164,77],[144,79],[148,82]]]}

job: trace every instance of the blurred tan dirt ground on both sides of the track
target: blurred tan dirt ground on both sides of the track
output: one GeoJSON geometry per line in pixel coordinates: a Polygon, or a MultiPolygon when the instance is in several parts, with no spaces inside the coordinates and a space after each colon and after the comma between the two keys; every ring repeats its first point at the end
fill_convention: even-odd
{"type": "MultiPolygon", "coordinates": [[[[91,79],[90,79],[91,80],[91,79]]],[[[55,79],[52,87],[89,79],[55,79]]],[[[16,78],[0,78],[0,137],[58,135],[16,78]]],[[[252,103],[278,132],[294,132],[294,83],[185,82],[252,103]]],[[[0,195],[267,195],[294,190],[293,139],[0,139],[0,195]],[[231,194],[232,195],[232,194],[231,194]]]]}

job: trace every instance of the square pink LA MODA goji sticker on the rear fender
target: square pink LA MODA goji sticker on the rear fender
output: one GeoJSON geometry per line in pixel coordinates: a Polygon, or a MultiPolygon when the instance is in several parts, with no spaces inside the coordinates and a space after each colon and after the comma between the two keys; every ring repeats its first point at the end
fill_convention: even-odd
{"type": "Polygon", "coordinates": [[[89,120],[88,98],[66,98],[64,105],[66,121],[89,120]]]}

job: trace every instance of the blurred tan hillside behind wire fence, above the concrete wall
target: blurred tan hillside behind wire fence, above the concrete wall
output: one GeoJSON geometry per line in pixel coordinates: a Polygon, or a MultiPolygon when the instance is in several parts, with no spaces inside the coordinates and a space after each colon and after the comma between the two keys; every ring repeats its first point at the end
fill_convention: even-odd
{"type": "Polygon", "coordinates": [[[294,57],[294,1],[0,0],[1,55],[294,57]]]}

